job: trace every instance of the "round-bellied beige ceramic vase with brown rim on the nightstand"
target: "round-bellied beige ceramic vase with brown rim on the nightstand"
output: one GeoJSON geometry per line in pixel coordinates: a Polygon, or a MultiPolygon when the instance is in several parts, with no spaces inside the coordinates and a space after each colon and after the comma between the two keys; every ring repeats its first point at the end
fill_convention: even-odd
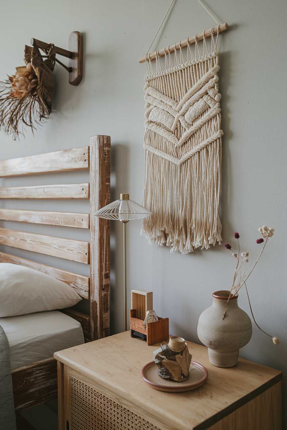
{"type": "Polygon", "coordinates": [[[251,338],[251,320],[238,307],[238,295],[231,296],[224,319],[222,319],[229,291],[213,293],[212,306],[198,319],[198,338],[208,347],[209,361],[216,367],[232,367],[238,362],[239,348],[251,338]]]}

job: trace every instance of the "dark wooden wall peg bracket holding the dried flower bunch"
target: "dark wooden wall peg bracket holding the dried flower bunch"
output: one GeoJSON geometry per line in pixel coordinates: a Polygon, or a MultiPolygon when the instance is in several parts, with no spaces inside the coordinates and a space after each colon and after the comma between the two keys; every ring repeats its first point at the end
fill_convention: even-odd
{"type": "MultiPolygon", "coordinates": [[[[31,45],[37,46],[37,48],[46,50],[49,43],[42,42],[32,38],[31,45]]],[[[68,68],[57,61],[59,64],[65,67],[69,72],[69,83],[71,85],[79,85],[83,77],[83,46],[82,46],[82,34],[79,31],[72,31],[69,37],[69,50],[59,48],[55,46],[56,54],[62,55],[63,57],[69,58],[68,68]]]]}

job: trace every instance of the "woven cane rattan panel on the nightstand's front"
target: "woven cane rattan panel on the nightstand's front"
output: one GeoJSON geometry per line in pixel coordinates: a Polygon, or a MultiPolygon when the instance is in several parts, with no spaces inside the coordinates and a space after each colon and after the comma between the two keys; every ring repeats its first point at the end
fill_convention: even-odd
{"type": "Polygon", "coordinates": [[[70,430],[160,430],[70,376],[70,430]]]}

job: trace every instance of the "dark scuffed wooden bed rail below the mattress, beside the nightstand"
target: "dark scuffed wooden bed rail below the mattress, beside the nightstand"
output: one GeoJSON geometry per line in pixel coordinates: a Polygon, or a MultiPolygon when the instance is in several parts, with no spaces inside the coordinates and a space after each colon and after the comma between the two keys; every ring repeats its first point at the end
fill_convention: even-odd
{"type": "Polygon", "coordinates": [[[24,410],[57,397],[57,361],[48,358],[12,370],[14,406],[24,410]]]}

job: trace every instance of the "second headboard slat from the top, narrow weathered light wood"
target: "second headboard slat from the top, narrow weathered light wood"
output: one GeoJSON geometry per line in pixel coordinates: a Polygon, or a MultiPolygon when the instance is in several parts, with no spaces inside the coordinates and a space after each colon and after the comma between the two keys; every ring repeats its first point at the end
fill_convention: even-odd
{"type": "Polygon", "coordinates": [[[0,199],[88,199],[89,184],[36,185],[2,187],[0,199]]]}

